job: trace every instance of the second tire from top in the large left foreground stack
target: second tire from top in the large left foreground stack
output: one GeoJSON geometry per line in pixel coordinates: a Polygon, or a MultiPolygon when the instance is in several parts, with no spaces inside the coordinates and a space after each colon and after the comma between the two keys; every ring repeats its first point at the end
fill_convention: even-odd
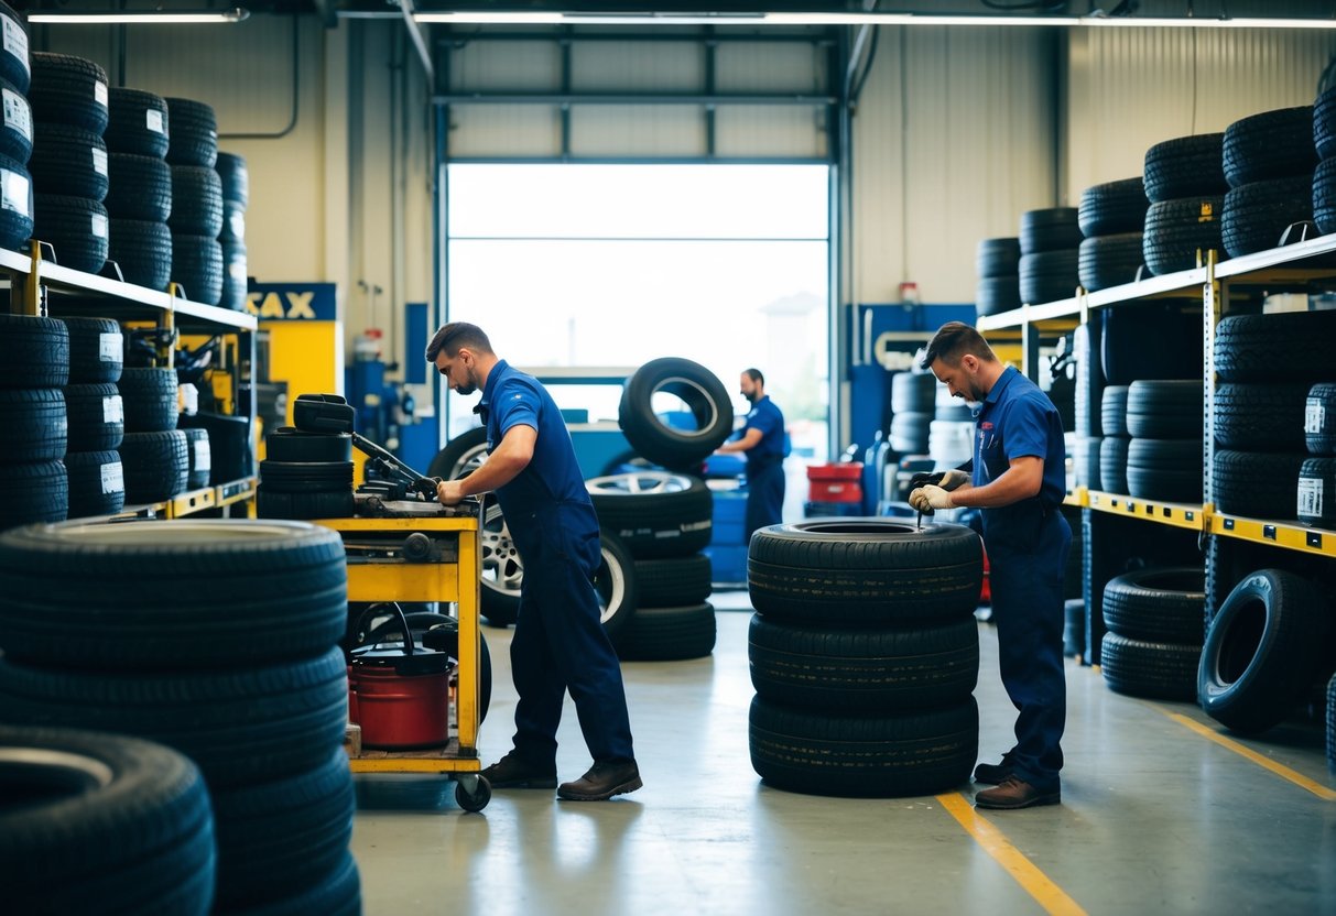
{"type": "Polygon", "coordinates": [[[219,790],[325,762],[343,741],[347,664],[337,646],[261,668],[162,673],[27,666],[5,656],[0,698],[13,722],[96,726],[166,744],[219,790]]]}

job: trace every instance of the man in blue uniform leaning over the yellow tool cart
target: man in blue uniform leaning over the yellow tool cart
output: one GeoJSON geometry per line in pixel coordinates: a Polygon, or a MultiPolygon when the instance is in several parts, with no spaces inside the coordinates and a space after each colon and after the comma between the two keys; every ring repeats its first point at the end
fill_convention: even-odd
{"type": "Polygon", "coordinates": [[[565,421],[546,389],[498,359],[476,324],[444,326],[426,358],[454,391],[482,390],[474,413],[488,430],[488,459],[468,477],[442,481],[437,497],[453,506],[494,490],[524,561],[510,642],[520,696],[514,748],[482,776],[496,789],[556,786],[558,797],[572,801],[635,792],[641,781],[621,666],[593,588],[601,557],[599,519],[565,421]],[[593,766],[557,786],[556,736],[568,689],[593,766]]]}

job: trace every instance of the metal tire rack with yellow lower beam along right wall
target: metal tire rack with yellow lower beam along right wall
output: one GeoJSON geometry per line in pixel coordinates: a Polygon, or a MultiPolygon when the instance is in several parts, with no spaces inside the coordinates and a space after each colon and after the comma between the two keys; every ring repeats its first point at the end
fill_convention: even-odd
{"type": "MultiPolygon", "coordinates": [[[[1214,457],[1214,437],[1212,430],[1212,406],[1214,401],[1214,328],[1222,312],[1228,312],[1232,296],[1242,298],[1249,291],[1284,291],[1305,288],[1317,279],[1336,278],[1336,266],[1315,268],[1311,259],[1336,254],[1336,234],[1299,242],[1284,248],[1272,248],[1241,258],[1217,263],[1217,252],[1198,252],[1198,267],[1174,274],[1152,276],[1134,283],[1126,283],[1097,292],[1077,288],[1070,299],[1041,304],[1023,304],[1021,308],[985,315],[978,319],[978,328],[986,336],[1003,340],[1015,339],[1019,334],[1022,345],[1021,370],[1037,381],[1039,371],[1039,343],[1042,338],[1053,338],[1065,332],[1075,323],[1088,323],[1093,308],[1112,308],[1120,303],[1144,302],[1161,296],[1200,295],[1202,303],[1202,505],[1186,505],[1137,499],[1128,494],[1105,493],[1089,487],[1075,487],[1067,493],[1066,505],[1079,506],[1082,521],[1089,534],[1088,559],[1082,566],[1083,594],[1088,600],[1086,657],[1089,664],[1100,662],[1100,640],[1104,637],[1102,616],[1092,613],[1089,605],[1098,608],[1104,598],[1104,584],[1122,559],[1126,559],[1126,539],[1118,537],[1125,522],[1114,522],[1110,517],[1134,518],[1194,531],[1205,535],[1237,538],[1253,543],[1297,550],[1336,558],[1336,530],[1309,527],[1292,521],[1245,518],[1217,513],[1210,502],[1213,487],[1210,481],[1212,459],[1214,457]],[[1307,263],[1305,263],[1307,262],[1307,263]],[[1108,519],[1108,521],[1105,521],[1108,519]],[[1108,574],[1105,574],[1108,573],[1108,574]]],[[[1077,397],[1081,397],[1078,393],[1077,397]]]]}

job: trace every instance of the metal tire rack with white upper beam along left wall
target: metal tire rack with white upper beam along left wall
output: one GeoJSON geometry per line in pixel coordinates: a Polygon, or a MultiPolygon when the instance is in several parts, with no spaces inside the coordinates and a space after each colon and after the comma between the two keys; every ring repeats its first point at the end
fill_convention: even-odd
{"type": "MultiPolygon", "coordinates": [[[[151,320],[163,331],[191,331],[216,334],[231,332],[238,338],[239,365],[231,366],[234,390],[255,365],[257,318],[218,306],[206,306],[178,296],[178,286],[171,284],[168,292],[151,290],[146,286],[124,283],[98,274],[60,267],[52,260],[43,260],[41,243],[32,242],[32,252],[8,251],[0,248],[0,278],[7,278],[11,290],[11,310],[24,315],[59,318],[60,315],[96,315],[115,318],[118,322],[151,320]],[[106,296],[106,303],[77,306],[63,302],[63,296],[52,292],[106,296]],[[16,308],[17,306],[17,308],[16,308]]],[[[167,338],[171,339],[170,336],[167,338]]],[[[159,347],[158,365],[171,369],[175,351],[168,342],[159,347]]],[[[254,454],[255,403],[250,406],[251,451],[254,454]]],[[[166,502],[126,506],[114,518],[180,518],[206,509],[220,509],[236,503],[254,505],[257,478],[243,477],[236,481],[188,490],[166,502]]],[[[231,511],[231,510],[228,510],[231,511]]]]}

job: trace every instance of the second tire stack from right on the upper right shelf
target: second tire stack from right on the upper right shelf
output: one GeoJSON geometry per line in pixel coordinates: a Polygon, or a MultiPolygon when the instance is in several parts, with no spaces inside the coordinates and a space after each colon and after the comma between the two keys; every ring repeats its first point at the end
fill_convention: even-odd
{"type": "Polygon", "coordinates": [[[1220,220],[1229,256],[1304,238],[1288,231],[1313,219],[1313,107],[1264,111],[1225,128],[1222,166],[1229,194],[1220,220]],[[1287,235],[1288,232],[1288,235],[1287,235]]]}

